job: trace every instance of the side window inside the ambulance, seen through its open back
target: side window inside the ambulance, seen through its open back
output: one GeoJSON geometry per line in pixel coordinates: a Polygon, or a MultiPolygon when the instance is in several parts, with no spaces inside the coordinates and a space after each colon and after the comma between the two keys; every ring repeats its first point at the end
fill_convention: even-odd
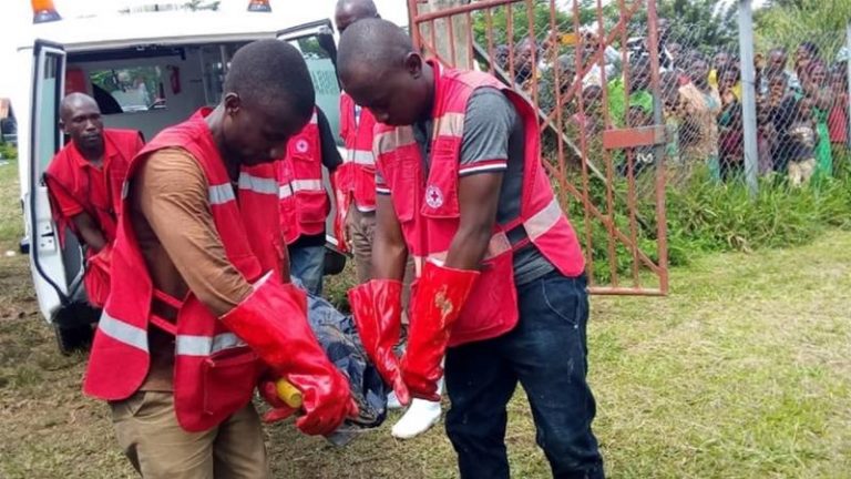
{"type": "MultiPolygon", "coordinates": [[[[120,111],[106,109],[103,114],[132,113],[165,109],[163,71],[160,67],[133,67],[98,70],[89,74],[98,96],[109,95],[120,111]]],[[[105,98],[105,96],[104,96],[105,98]]]]}

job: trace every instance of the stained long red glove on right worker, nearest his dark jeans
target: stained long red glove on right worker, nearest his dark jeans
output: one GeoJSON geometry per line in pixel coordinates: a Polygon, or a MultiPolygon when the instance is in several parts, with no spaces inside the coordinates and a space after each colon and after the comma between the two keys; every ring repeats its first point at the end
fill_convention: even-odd
{"type": "Polygon", "coordinates": [[[479,272],[452,269],[426,262],[417,283],[408,348],[402,356],[402,379],[413,397],[440,400],[438,380],[452,325],[461,314],[479,272]]]}

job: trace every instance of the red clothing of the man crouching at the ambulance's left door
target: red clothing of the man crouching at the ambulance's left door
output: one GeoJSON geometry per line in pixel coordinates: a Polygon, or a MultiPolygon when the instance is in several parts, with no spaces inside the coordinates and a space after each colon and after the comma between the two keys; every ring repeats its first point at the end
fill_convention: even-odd
{"type": "Polygon", "coordinates": [[[94,166],[89,164],[73,142],[57,153],[48,171],[44,172],[45,182],[51,191],[51,208],[60,243],[64,244],[66,228],[80,235],[73,221],[62,214],[60,198],[63,196],[74,198],[98,223],[106,240],[106,251],[102,254],[86,249],[85,255],[88,265],[83,284],[89,302],[96,307],[103,307],[110,293],[109,247],[115,241],[117,212],[121,208],[121,187],[127,175],[130,161],[143,146],[142,137],[137,131],[133,130],[104,129],[103,141],[102,174],[92,175],[94,166]],[[101,182],[101,179],[104,181],[101,182]],[[96,258],[93,259],[95,256],[96,258]]]}

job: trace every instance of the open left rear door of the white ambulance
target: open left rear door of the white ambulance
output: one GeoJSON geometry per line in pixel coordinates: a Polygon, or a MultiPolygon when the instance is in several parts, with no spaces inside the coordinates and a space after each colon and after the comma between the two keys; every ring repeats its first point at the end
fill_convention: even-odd
{"type": "Polygon", "coordinates": [[[54,326],[60,349],[68,353],[91,337],[89,324],[96,310],[82,296],[83,263],[73,234],[64,248],[53,223],[43,175],[62,147],[59,109],[64,96],[65,51],[62,45],[35,40],[30,96],[30,143],[24,218],[30,237],[30,269],[42,316],[54,326]]]}

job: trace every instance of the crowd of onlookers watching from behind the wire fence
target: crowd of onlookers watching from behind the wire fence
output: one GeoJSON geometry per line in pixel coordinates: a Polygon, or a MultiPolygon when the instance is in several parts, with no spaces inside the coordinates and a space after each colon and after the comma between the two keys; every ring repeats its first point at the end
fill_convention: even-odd
{"type": "MultiPolygon", "coordinates": [[[[740,60],[731,50],[701,45],[700,51],[669,37],[660,19],[658,94],[667,130],[669,164],[706,163],[714,177],[734,180],[745,170],[740,60]]],[[[542,112],[556,116],[578,144],[599,141],[608,128],[654,124],[655,93],[646,41],[619,50],[599,41],[596,26],[582,28],[578,41],[550,32],[543,41],[524,38],[513,51],[500,45],[495,64],[514,84],[536,98],[542,112]],[[577,51],[581,50],[581,51],[577,51]],[[624,51],[625,50],[625,51],[624,51]],[[511,53],[511,54],[509,54],[511,53]],[[599,53],[599,54],[598,54],[599,53]],[[577,59],[593,61],[578,79],[577,59]],[[534,59],[534,60],[533,60],[534,59]],[[594,60],[591,60],[594,59],[594,60]],[[602,67],[601,67],[602,65],[602,67]],[[557,80],[556,80],[557,79],[557,80]],[[604,90],[605,89],[605,94],[604,90]],[[605,101],[604,101],[605,100],[605,101]]],[[[800,185],[813,175],[830,176],[848,160],[848,59],[831,62],[806,41],[790,54],[776,47],[755,59],[759,173],[800,185]]],[[[597,155],[598,149],[588,155],[597,155]]],[[[637,163],[652,155],[637,152],[637,163]]]]}

